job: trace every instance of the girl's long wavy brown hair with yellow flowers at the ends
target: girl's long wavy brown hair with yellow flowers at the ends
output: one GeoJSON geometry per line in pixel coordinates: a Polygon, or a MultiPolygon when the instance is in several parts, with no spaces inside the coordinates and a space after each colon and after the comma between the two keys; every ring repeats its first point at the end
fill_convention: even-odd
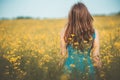
{"type": "Polygon", "coordinates": [[[85,48],[84,43],[92,43],[94,32],[93,17],[87,7],[81,2],[74,4],[69,12],[64,34],[67,45],[72,44],[77,49],[83,50],[85,48]]]}

